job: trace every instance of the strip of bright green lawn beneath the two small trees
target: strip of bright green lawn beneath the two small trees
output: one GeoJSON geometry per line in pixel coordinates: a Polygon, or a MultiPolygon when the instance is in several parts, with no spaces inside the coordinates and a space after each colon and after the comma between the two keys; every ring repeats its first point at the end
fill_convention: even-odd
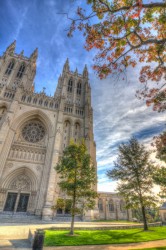
{"type": "Polygon", "coordinates": [[[78,236],[67,236],[67,230],[46,230],[45,246],[81,246],[122,244],[166,239],[166,227],[153,227],[144,232],[141,228],[123,230],[75,230],[78,236]]]}

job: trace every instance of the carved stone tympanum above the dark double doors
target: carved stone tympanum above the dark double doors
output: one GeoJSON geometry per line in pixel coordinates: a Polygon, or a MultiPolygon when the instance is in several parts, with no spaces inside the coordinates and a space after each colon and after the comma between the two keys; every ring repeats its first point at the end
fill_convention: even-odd
{"type": "Polygon", "coordinates": [[[20,175],[10,186],[11,189],[27,190],[31,189],[30,179],[26,175],[20,175]]]}

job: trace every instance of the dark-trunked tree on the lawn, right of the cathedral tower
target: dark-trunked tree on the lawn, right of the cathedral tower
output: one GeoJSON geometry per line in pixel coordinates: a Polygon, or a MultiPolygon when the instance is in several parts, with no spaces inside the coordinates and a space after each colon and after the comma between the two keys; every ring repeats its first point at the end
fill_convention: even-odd
{"type": "Polygon", "coordinates": [[[120,181],[117,191],[124,197],[127,208],[137,208],[142,212],[144,230],[148,230],[146,209],[155,206],[152,194],[153,171],[149,161],[150,153],[132,138],[119,146],[119,154],[114,168],[107,171],[110,179],[120,181]]]}

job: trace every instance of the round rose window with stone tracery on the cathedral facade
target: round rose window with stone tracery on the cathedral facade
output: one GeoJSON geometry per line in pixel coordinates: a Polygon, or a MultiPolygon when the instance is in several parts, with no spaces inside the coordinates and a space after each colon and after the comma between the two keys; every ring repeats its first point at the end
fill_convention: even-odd
{"type": "Polygon", "coordinates": [[[39,142],[45,136],[44,126],[39,121],[31,121],[24,126],[22,136],[28,142],[39,142]]]}

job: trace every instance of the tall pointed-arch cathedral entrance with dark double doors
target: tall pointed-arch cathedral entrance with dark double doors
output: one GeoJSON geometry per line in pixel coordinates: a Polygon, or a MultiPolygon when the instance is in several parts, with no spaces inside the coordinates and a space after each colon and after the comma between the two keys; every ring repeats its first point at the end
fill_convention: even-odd
{"type": "Polygon", "coordinates": [[[4,212],[34,213],[37,195],[37,180],[26,168],[13,171],[3,182],[5,192],[4,212]]]}

